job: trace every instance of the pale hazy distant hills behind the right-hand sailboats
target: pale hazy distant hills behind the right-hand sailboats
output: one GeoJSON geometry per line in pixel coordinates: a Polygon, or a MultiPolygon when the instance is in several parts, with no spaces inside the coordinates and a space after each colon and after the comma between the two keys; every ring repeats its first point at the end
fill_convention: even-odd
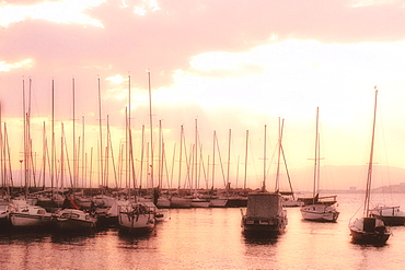
{"type": "MultiPolygon", "coordinates": [[[[313,167],[302,167],[291,169],[292,187],[297,191],[311,191],[313,187],[313,167]]],[[[364,189],[367,180],[367,165],[347,165],[347,166],[321,166],[321,189],[348,190],[364,189]]],[[[392,186],[395,189],[402,189],[401,183],[405,183],[405,169],[389,166],[373,166],[372,189],[392,186]]],[[[405,184],[404,184],[405,185],[405,184]]]]}

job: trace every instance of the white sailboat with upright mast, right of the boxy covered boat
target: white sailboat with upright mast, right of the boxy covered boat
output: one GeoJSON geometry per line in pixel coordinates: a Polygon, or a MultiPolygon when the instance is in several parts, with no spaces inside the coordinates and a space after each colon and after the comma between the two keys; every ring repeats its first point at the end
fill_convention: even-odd
{"type": "MultiPolygon", "coordinates": [[[[315,134],[315,166],[314,166],[314,185],[313,197],[306,198],[304,206],[300,209],[301,215],[304,220],[316,222],[336,222],[339,212],[336,209],[336,196],[320,197],[316,190],[316,183],[320,183],[320,143],[319,143],[319,113],[316,108],[316,134],[315,134]]],[[[319,186],[319,185],[317,185],[319,186]]],[[[319,187],[317,187],[319,188],[319,187]]]]}

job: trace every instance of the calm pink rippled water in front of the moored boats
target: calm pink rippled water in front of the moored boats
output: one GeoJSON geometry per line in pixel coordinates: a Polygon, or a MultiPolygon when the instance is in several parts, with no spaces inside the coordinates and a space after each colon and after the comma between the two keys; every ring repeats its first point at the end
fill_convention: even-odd
{"type": "MultiPolygon", "coordinates": [[[[375,201],[401,204],[404,195],[375,201]]],[[[147,236],[109,228],[88,236],[48,233],[0,235],[1,269],[404,269],[405,226],[383,247],[351,243],[348,223],[361,195],[339,195],[337,223],[301,219],[288,209],[288,230],[277,238],[242,234],[240,209],[171,210],[147,236]]]]}

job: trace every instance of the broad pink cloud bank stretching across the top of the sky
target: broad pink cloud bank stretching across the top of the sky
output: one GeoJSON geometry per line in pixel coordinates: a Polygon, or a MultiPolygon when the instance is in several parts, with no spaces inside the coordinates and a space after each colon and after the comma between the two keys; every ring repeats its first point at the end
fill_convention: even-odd
{"type": "MultiPolygon", "coordinates": [[[[37,72],[49,75],[86,72],[109,77],[131,71],[139,78],[150,68],[154,85],[162,86],[173,83],[175,70],[189,69],[193,58],[206,52],[239,54],[291,38],[329,44],[403,38],[404,10],[400,3],[358,8],[350,4],[352,1],[253,4],[212,0],[3,4],[2,12],[15,9],[12,13],[21,14],[15,19],[21,22],[2,23],[8,27],[2,31],[1,58],[32,58],[37,72]],[[136,7],[144,7],[148,12],[139,16],[134,13],[136,7]],[[54,8],[57,12],[47,12],[54,8]],[[39,17],[45,20],[35,20],[39,17]]],[[[252,68],[245,66],[244,71],[262,72],[252,68]]],[[[240,74],[236,70],[231,73],[240,74]]],[[[134,82],[141,85],[139,80],[134,82]]]]}

